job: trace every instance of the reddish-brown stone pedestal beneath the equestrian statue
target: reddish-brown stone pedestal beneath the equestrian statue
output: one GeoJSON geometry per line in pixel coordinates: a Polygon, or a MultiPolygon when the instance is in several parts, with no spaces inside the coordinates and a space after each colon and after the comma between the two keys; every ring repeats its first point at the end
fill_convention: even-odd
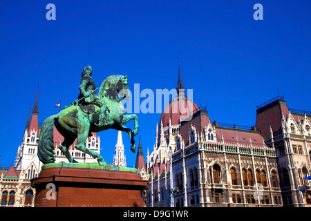
{"type": "Polygon", "coordinates": [[[140,207],[147,181],[136,172],[56,167],[42,169],[31,185],[37,207],[140,207]]]}

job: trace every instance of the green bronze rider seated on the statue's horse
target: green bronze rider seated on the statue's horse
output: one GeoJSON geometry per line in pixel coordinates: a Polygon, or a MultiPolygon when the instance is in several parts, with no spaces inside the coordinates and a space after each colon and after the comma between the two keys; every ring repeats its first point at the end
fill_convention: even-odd
{"type": "Polygon", "coordinates": [[[95,106],[98,106],[100,108],[100,116],[98,119],[98,124],[95,124],[95,125],[103,126],[106,121],[106,111],[109,111],[109,108],[102,101],[102,99],[97,97],[97,95],[94,93],[96,86],[95,86],[95,81],[91,77],[92,75],[91,66],[85,67],[81,75],[82,75],[82,79],[81,79],[81,84],[79,86],[80,93],[78,96],[79,105],[94,104],[95,106]]]}

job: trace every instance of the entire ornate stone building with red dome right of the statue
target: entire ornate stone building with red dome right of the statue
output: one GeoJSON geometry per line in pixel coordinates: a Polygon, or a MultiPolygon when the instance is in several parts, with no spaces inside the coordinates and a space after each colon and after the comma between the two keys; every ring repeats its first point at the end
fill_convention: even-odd
{"type": "Polygon", "coordinates": [[[176,89],[147,153],[147,206],[311,205],[310,113],[278,96],[257,106],[255,126],[218,124],[187,98],[180,67],[176,89]]]}

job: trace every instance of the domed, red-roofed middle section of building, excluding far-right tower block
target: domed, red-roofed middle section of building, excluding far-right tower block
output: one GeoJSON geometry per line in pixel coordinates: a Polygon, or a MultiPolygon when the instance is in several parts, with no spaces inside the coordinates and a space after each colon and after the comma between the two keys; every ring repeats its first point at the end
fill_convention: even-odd
{"type": "MultiPolygon", "coordinates": [[[[179,69],[177,90],[180,81],[179,69]]],[[[147,153],[147,206],[283,206],[276,149],[255,127],[211,122],[187,96],[164,110],[147,153]],[[178,102],[192,107],[190,121],[173,112],[178,102]]]]}

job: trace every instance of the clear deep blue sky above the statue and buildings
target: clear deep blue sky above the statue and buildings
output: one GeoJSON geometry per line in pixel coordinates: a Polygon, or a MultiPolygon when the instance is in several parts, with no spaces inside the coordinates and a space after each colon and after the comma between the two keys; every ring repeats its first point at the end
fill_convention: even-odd
{"type": "MultiPolygon", "coordinates": [[[[88,65],[97,87],[109,75],[129,74],[131,90],[139,83],[156,92],[176,88],[180,57],[184,85],[196,104],[207,104],[212,121],[252,126],[256,105],[278,91],[290,108],[310,110],[310,0],[2,0],[0,8],[1,166],[15,160],[37,85],[42,123],[59,100],[66,106],[77,98],[88,65]],[[46,20],[48,3],[56,21],[46,20]],[[253,19],[255,3],[263,5],[263,21],[253,19]]],[[[138,117],[146,155],[160,114],[138,117]]],[[[99,135],[112,163],[117,131],[99,135]]],[[[133,166],[125,133],[123,142],[133,166]]]]}

